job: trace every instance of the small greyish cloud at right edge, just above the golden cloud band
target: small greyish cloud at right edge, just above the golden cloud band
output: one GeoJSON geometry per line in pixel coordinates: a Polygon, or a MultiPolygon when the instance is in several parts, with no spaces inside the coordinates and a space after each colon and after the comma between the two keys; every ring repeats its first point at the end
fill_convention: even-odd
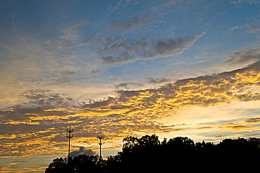
{"type": "Polygon", "coordinates": [[[229,57],[224,63],[228,64],[250,64],[260,60],[260,47],[248,47],[240,52],[225,54],[229,57]]]}

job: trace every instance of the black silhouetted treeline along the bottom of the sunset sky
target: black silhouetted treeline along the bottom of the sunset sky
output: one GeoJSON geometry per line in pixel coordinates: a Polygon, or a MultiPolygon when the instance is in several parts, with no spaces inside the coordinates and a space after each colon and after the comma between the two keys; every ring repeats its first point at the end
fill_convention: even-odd
{"type": "Polygon", "coordinates": [[[188,137],[174,137],[160,142],[158,136],[125,137],[123,148],[106,160],[99,156],[79,155],[57,158],[45,173],[123,173],[222,170],[258,170],[260,138],[224,139],[218,144],[194,143],[188,137]]]}

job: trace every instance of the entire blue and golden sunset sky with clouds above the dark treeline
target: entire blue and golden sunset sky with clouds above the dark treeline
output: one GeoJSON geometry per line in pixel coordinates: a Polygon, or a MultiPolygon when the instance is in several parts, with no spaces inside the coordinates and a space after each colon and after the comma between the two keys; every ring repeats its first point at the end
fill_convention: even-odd
{"type": "MultiPolygon", "coordinates": [[[[127,136],[260,137],[259,0],[0,0],[0,172],[127,136]]],[[[172,156],[174,157],[174,156],[172,156]]]]}

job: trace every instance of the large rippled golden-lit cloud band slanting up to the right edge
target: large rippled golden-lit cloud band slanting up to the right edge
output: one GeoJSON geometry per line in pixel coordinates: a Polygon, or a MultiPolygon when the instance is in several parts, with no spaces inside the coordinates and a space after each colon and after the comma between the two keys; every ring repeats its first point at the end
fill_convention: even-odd
{"type": "MultiPolygon", "coordinates": [[[[158,107],[164,108],[166,111],[192,105],[212,106],[227,103],[231,100],[258,100],[258,93],[250,91],[245,93],[245,91],[251,85],[259,84],[259,64],[260,61],[249,67],[231,72],[178,80],[173,84],[167,84],[157,89],[116,91],[118,97],[109,97],[92,104],[108,106],[113,103],[116,105],[132,105],[133,107],[138,104],[137,107],[142,105],[141,107],[153,108],[151,114],[156,115],[159,114],[156,111],[158,107]],[[160,104],[157,105],[157,103],[160,104]]],[[[117,87],[127,85],[136,84],[122,83],[117,87]]]]}

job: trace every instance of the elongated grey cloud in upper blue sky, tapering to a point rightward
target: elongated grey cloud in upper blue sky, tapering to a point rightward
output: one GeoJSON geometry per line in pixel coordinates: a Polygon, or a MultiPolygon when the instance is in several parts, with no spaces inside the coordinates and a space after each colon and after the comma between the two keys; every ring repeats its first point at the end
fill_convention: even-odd
{"type": "Polygon", "coordinates": [[[139,59],[155,59],[182,53],[203,35],[205,35],[205,32],[195,36],[177,37],[175,39],[166,37],[158,40],[154,40],[152,36],[137,40],[123,40],[120,36],[114,36],[106,38],[103,45],[95,51],[103,64],[122,64],[139,59]]]}

